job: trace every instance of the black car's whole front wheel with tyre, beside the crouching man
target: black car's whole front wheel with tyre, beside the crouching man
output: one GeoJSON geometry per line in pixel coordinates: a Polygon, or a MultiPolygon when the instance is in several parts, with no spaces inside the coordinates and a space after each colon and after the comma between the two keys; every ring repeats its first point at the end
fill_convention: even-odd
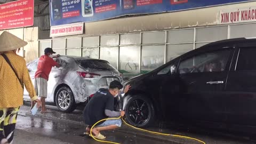
{"type": "Polygon", "coordinates": [[[136,127],[147,127],[155,118],[155,109],[150,99],[134,95],[127,100],[125,117],[129,124],[136,127]]]}

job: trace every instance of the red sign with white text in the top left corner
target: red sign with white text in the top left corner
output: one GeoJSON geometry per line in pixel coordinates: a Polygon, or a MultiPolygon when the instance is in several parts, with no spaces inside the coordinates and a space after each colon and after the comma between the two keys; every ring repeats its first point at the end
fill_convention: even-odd
{"type": "Polygon", "coordinates": [[[0,29],[33,26],[34,0],[20,0],[0,5],[0,29]]]}

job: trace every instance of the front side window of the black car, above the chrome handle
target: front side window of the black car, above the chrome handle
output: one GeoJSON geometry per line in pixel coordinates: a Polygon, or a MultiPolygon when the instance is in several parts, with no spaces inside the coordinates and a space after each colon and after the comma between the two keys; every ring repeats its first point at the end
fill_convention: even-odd
{"type": "Polygon", "coordinates": [[[226,68],[230,51],[230,49],[225,49],[221,51],[207,52],[183,60],[180,62],[178,68],[179,73],[186,74],[223,71],[226,68]]]}

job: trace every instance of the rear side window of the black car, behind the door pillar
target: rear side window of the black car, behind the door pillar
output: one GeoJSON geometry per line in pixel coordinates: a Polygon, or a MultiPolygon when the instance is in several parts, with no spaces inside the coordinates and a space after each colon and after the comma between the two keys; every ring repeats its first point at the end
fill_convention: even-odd
{"type": "Polygon", "coordinates": [[[242,47],[239,50],[236,70],[256,70],[256,47],[242,47]]]}

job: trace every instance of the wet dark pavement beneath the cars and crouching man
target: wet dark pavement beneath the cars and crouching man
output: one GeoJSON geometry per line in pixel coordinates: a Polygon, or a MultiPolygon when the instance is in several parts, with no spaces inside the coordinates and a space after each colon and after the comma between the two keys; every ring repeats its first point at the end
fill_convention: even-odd
{"type": "MultiPolygon", "coordinates": [[[[51,109],[51,113],[38,113],[36,116],[31,116],[28,113],[29,103],[26,104],[21,107],[18,115],[14,143],[100,143],[83,134],[86,127],[82,119],[83,105],[71,114],[60,113],[56,107],[47,106],[51,109]]],[[[193,128],[185,129],[182,126],[178,128],[169,127],[168,129],[153,126],[147,130],[186,135],[203,140],[206,143],[254,143],[243,135],[224,134],[193,128]]],[[[106,140],[119,143],[198,143],[193,140],[148,134],[134,130],[125,124],[122,125],[121,129],[106,131],[102,134],[106,135],[106,140]]]]}

